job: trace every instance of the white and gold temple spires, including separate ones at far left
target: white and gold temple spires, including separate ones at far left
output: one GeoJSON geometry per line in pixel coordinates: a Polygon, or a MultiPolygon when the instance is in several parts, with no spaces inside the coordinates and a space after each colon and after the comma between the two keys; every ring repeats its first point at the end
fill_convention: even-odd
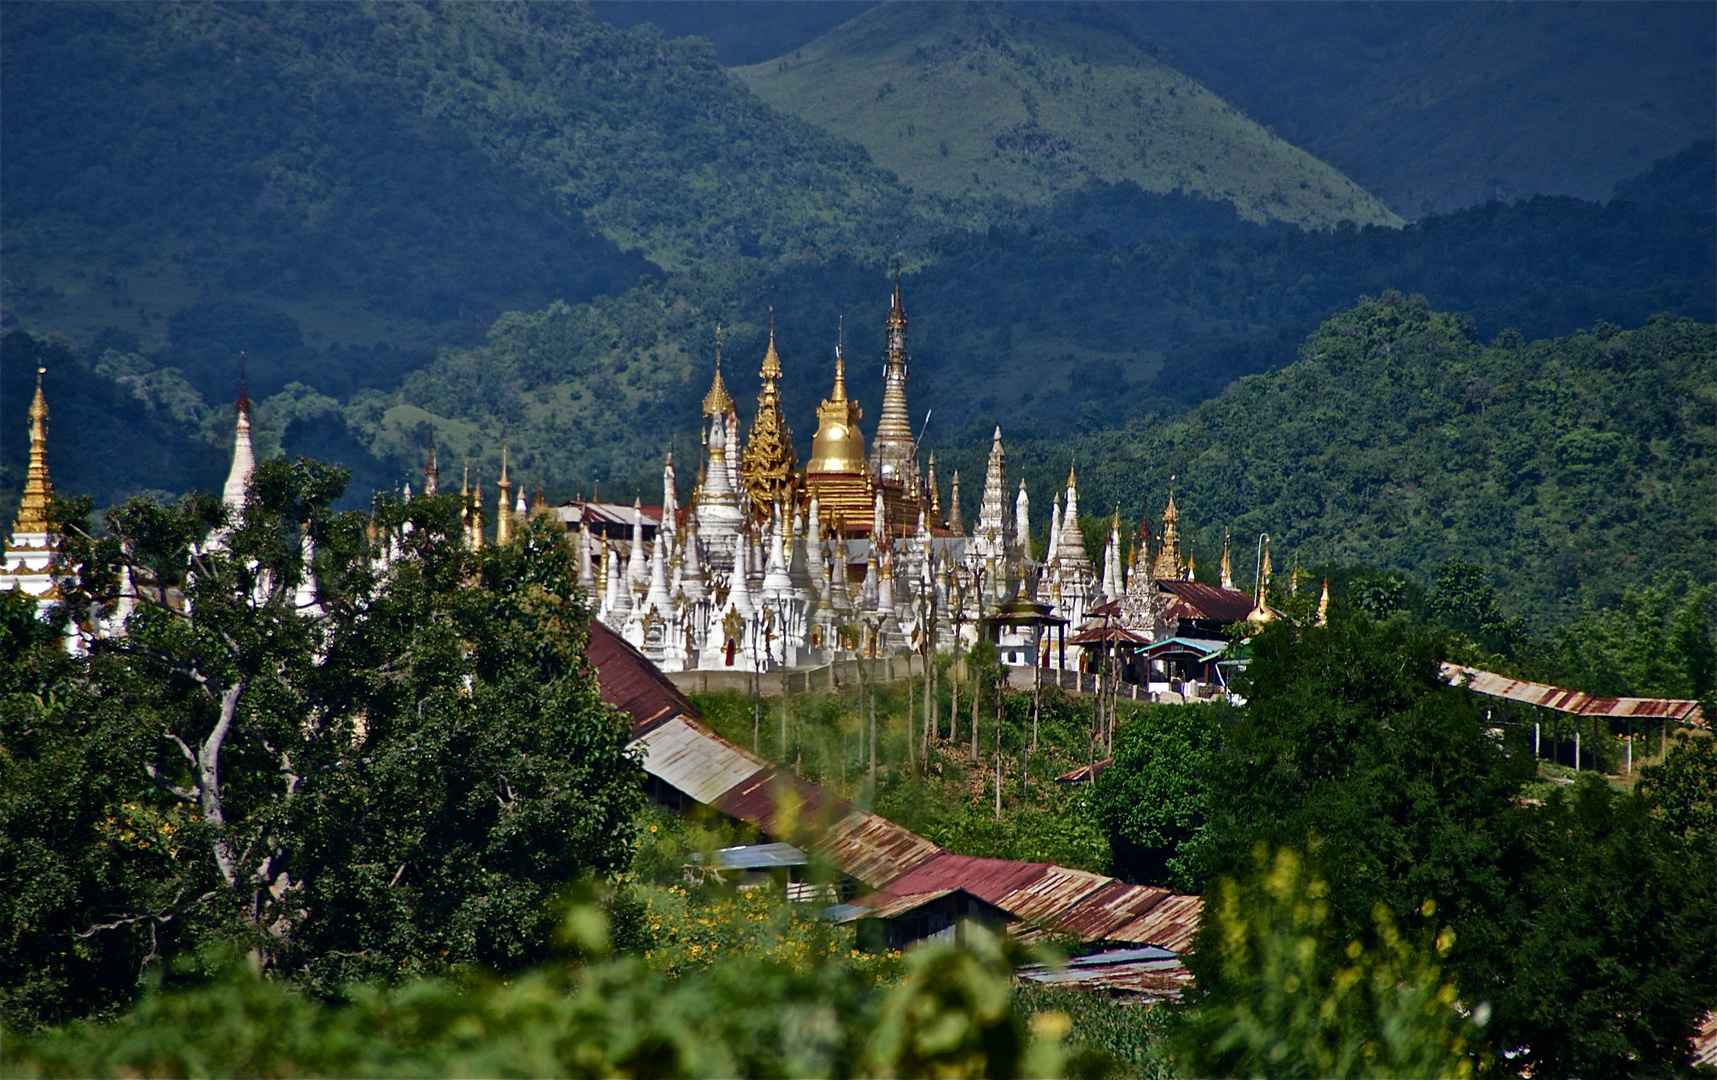
{"type": "MultiPolygon", "coordinates": [[[[1176,658],[1207,661],[1224,644],[1217,640],[1223,628],[1235,622],[1277,616],[1267,603],[1267,546],[1260,548],[1262,582],[1250,596],[1235,589],[1226,539],[1223,584],[1193,580],[1173,488],[1161,534],[1152,532],[1147,515],[1135,543],[1123,549],[1121,519],[1111,513],[1106,543],[1092,551],[1080,522],[1078,474],[1070,465],[1065,489],[1049,503],[1047,544],[1039,558],[1032,501],[1023,481],[1010,486],[1001,428],[991,440],[968,531],[960,474],[951,476],[944,503],[934,457],[927,477],[920,469],[907,402],[907,311],[898,275],[884,323],[883,412],[869,446],[860,428],[864,414],[846,391],[840,335],[833,361],[829,397],[817,405],[810,458],[802,469],[781,407],[783,359],[771,311],[757,373],[761,391],[743,448],[716,328],[714,374],[702,400],[702,453],[683,507],[671,453],[663,465],[659,503],[580,498],[548,507],[539,491],[536,505],[529,505],[525,484],[512,477],[503,440],[493,494],[484,493],[482,476],[465,467],[458,494],[462,541],[472,549],[510,544],[532,529],[532,519],[556,522],[577,551],[579,587],[596,618],[668,671],[767,671],[908,649],[965,651],[987,635],[1003,663],[1016,666],[1090,666],[1099,656],[1119,659],[1123,649],[1132,664],[1152,649],[1164,651],[1157,668],[1145,664],[1142,671],[1152,678],[1150,671],[1168,670],[1176,658]]],[[[29,476],[0,589],[41,598],[43,610],[58,596],[46,438],[48,405],[38,374],[29,409],[29,476]]],[[[232,470],[221,491],[234,517],[244,510],[254,470],[251,405],[240,385],[232,470]]],[[[434,496],[440,489],[431,443],[422,491],[434,496]]],[[[405,494],[410,498],[410,488],[405,494]]],[[[208,543],[218,546],[223,536],[216,531],[208,543]]],[[[400,537],[376,539],[378,565],[385,567],[400,549],[400,537]]],[[[314,603],[311,586],[306,604],[314,603]]],[[[1154,656],[1147,659],[1156,663],[1154,656]]]]}

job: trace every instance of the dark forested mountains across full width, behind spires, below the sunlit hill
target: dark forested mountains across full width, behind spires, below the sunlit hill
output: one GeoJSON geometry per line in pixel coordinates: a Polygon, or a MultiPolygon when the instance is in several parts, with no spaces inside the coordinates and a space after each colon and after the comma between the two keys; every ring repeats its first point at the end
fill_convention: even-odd
{"type": "MultiPolygon", "coordinates": [[[[972,476],[996,422],[1027,457],[1030,440],[1154,429],[1291,364],[1360,294],[1423,294],[1482,342],[1717,319],[1710,143],[1605,204],[1301,232],[1133,182],[1035,208],[915,194],[706,45],[580,7],[0,19],[0,318],[50,335],[9,333],[0,429],[22,429],[46,364],[57,482],[98,505],[218,482],[240,350],[259,450],[354,467],[357,501],[414,479],[431,431],[445,467],[469,457],[488,479],[505,433],[551,496],[649,491],[663,453],[695,443],[716,323],[750,414],[771,304],[809,443],[841,318],[876,416],[896,254],[913,407],[972,476]]],[[[9,491],[24,450],[0,443],[9,491]]]]}

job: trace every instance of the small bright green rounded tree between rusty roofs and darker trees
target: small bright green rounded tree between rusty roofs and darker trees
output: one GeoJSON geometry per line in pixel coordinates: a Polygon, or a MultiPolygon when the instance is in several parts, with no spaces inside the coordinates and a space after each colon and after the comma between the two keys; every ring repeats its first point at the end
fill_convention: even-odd
{"type": "Polygon", "coordinates": [[[1123,723],[1114,761],[1092,788],[1113,869],[1128,881],[1197,893],[1209,826],[1205,776],[1223,738],[1221,709],[1159,706],[1123,723]]]}

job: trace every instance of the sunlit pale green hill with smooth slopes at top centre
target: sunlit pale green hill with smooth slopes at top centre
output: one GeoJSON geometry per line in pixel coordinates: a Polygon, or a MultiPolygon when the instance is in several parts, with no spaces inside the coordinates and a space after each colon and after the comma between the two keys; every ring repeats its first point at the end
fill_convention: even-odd
{"type": "Polygon", "coordinates": [[[737,69],[919,191],[1044,203],[1090,180],[1233,201],[1252,221],[1396,225],[1382,203],[1161,62],[1099,10],[888,3],[737,69]]]}

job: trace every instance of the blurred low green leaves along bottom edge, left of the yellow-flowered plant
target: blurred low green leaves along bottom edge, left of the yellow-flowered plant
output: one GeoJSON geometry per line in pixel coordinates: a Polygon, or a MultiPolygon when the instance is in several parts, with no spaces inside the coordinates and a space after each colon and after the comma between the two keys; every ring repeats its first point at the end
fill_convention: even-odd
{"type": "Polygon", "coordinates": [[[879,982],[862,962],[731,956],[666,977],[604,958],[598,908],[567,919],[575,956],[520,979],[352,987],[319,1004],[244,965],[149,996],[113,1025],[9,1047],[9,1073],[292,1077],[1056,1077],[1068,1016],[1013,1008],[1016,950],[975,931],[879,982]]]}

